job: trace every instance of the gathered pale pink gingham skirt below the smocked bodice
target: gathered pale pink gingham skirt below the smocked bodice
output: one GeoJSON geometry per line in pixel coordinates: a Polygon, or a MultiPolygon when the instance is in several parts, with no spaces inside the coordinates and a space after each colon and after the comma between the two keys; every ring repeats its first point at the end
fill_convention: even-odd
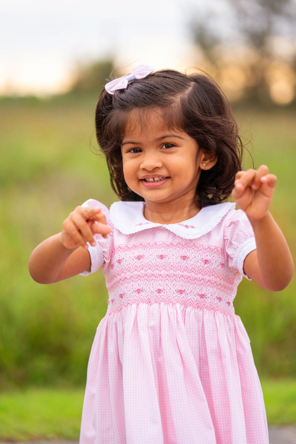
{"type": "Polygon", "coordinates": [[[238,315],[133,303],[100,321],[79,444],[268,444],[238,315]]]}

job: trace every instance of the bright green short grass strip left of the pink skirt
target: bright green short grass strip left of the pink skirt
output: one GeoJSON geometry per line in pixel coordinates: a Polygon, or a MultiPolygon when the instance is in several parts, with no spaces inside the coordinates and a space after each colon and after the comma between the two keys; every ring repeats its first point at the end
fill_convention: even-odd
{"type": "Polygon", "coordinates": [[[0,393],[0,440],[78,440],[83,389],[0,393]]]}

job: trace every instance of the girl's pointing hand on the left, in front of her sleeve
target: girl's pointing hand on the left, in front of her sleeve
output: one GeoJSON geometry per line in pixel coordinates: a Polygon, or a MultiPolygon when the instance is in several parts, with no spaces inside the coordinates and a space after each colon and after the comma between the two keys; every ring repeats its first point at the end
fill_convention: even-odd
{"type": "Polygon", "coordinates": [[[102,234],[107,239],[111,228],[107,225],[101,209],[93,206],[76,206],[63,222],[60,240],[66,248],[73,250],[79,246],[88,248],[86,242],[95,246],[93,234],[102,234]]]}

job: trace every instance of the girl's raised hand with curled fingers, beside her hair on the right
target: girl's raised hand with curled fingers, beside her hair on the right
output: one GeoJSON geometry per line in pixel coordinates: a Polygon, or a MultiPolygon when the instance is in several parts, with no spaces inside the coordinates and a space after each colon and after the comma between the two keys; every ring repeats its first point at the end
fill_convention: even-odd
{"type": "Polygon", "coordinates": [[[276,186],[276,176],[268,174],[266,165],[258,170],[239,171],[235,175],[232,197],[249,218],[262,219],[268,213],[276,186]]]}

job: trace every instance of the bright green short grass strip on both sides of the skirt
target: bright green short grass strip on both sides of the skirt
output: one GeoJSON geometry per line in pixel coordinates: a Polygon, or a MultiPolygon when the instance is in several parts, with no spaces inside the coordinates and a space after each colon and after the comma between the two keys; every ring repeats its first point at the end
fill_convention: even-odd
{"type": "MultiPolygon", "coordinates": [[[[261,381],[268,425],[296,423],[296,381],[261,381]]],[[[0,393],[0,440],[78,440],[83,389],[0,393]]]]}

